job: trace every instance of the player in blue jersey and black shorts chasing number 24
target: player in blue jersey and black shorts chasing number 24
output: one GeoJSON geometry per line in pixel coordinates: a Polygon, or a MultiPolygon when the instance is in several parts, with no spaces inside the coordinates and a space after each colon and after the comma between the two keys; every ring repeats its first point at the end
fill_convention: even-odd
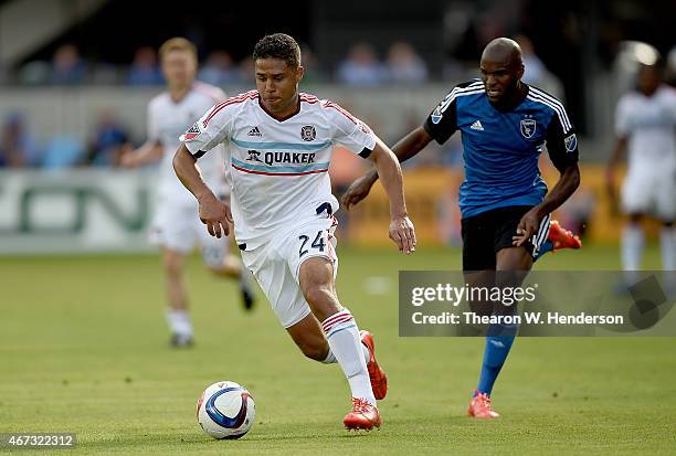
{"type": "MultiPolygon", "coordinates": [[[[463,271],[469,284],[517,286],[534,261],[552,243],[580,247],[580,241],[550,214],[580,183],[578,140],[563,108],[553,96],[521,82],[521,50],[513,40],[493,40],[482,54],[480,81],[458,84],[430,114],[423,126],[392,150],[400,161],[420,152],[433,139],[445,142],[462,134],[465,180],[460,189],[463,271]],[[561,176],[549,191],[540,177],[542,145],[561,176]],[[549,237],[549,242],[548,242],[549,237]],[[501,272],[499,275],[494,272],[501,272]],[[503,272],[515,272],[505,274],[503,272]]],[[[370,171],[342,197],[347,209],[361,201],[378,179],[370,171]]],[[[484,306],[485,307],[485,306],[484,306]]],[[[489,312],[511,314],[515,306],[490,304],[489,312]]],[[[473,305],[473,309],[478,306],[473,305]]],[[[493,385],[516,336],[516,327],[492,325],[478,385],[468,414],[499,415],[493,410],[493,385]]]]}

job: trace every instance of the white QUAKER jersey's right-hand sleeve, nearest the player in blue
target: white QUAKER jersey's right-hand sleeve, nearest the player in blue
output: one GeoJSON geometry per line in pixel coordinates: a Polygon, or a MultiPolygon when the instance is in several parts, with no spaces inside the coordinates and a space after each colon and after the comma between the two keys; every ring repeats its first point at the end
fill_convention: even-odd
{"type": "Polygon", "coordinates": [[[334,141],[363,158],[368,157],[376,147],[376,135],[369,126],[334,102],[324,100],[321,106],[334,128],[334,141]]]}

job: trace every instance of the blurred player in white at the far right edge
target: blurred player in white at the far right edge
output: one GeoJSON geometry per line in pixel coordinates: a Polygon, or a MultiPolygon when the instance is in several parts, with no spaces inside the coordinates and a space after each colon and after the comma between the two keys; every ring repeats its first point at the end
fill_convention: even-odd
{"type": "MultiPolygon", "coordinates": [[[[608,189],[614,197],[615,167],[629,149],[627,174],[622,184],[621,206],[629,215],[622,233],[622,266],[627,282],[632,271],[641,269],[644,233],[641,220],[646,214],[662,223],[659,244],[665,271],[676,269],[676,91],[662,83],[658,64],[644,65],[636,91],[622,96],[615,113],[617,141],[608,171],[608,189]]],[[[629,284],[631,285],[631,283],[629,284]]]]}

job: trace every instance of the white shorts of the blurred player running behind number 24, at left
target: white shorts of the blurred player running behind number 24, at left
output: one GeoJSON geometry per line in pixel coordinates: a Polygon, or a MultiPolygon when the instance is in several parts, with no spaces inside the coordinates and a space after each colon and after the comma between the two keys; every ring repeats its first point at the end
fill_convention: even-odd
{"type": "Polygon", "coordinates": [[[200,221],[199,205],[160,202],[150,230],[150,242],[178,253],[200,247],[204,264],[221,268],[230,250],[230,237],[214,237],[200,221]]]}

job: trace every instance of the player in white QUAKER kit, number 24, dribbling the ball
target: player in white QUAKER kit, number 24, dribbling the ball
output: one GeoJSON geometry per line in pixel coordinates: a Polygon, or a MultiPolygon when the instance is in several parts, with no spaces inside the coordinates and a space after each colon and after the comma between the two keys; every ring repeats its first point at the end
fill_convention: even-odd
{"type": "Polygon", "coordinates": [[[415,234],[401,168],[362,121],[335,103],[298,93],[303,66],[292,36],[264,36],[253,59],[257,91],[204,114],[182,136],[173,167],[198,199],[209,233],[228,234],[234,220],[244,264],[303,353],[342,368],[352,393],[345,426],[379,427],[376,400],[387,393],[387,377],[376,362],[372,335],[359,331],[336,294],[338,201],[327,171],[335,144],[373,160],[390,200],[390,238],[410,254],[415,234]],[[232,206],[213,194],[194,166],[220,144],[230,151],[232,206]]]}

